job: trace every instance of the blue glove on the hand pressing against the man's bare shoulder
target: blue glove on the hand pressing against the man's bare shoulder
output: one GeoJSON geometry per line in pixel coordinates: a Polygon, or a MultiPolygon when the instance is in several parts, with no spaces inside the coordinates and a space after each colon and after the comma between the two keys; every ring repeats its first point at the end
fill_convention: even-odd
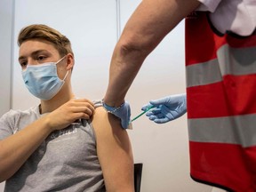
{"type": "Polygon", "coordinates": [[[102,104],[103,104],[103,107],[109,113],[121,119],[121,125],[124,129],[128,128],[128,125],[131,120],[131,108],[130,108],[130,104],[127,101],[124,101],[124,103],[117,108],[108,106],[104,101],[102,101],[102,104]]]}

